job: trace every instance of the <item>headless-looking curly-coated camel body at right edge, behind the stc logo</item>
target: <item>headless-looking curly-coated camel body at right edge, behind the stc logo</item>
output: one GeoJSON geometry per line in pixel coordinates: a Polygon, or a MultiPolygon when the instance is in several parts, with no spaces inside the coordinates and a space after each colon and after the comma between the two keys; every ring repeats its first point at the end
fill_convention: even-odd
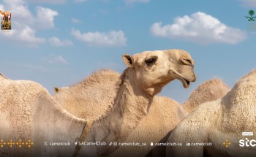
{"type": "Polygon", "coordinates": [[[222,99],[201,104],[179,123],[168,142],[182,146],[168,147],[167,156],[255,156],[255,96],[256,69],[222,99]]]}

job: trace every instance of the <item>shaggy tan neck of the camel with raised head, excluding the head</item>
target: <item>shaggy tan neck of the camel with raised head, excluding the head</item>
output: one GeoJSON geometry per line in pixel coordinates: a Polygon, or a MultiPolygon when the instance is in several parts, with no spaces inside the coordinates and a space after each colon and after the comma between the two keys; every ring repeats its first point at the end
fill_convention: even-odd
{"type": "Polygon", "coordinates": [[[97,153],[108,155],[118,147],[111,147],[110,142],[122,142],[146,116],[152,97],[146,96],[139,86],[125,77],[120,85],[112,110],[104,118],[94,122],[89,134],[89,141],[106,142],[107,146],[97,147],[97,153]]]}

